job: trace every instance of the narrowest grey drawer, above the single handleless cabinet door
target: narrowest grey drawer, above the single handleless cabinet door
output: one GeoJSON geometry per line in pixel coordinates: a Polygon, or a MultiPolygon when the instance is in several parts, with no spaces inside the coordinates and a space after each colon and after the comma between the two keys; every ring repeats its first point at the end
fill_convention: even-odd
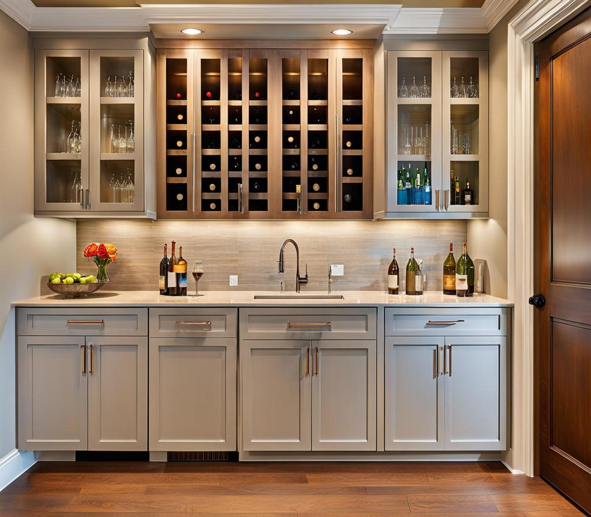
{"type": "Polygon", "coordinates": [[[150,337],[236,337],[236,309],[150,309],[150,337]]]}

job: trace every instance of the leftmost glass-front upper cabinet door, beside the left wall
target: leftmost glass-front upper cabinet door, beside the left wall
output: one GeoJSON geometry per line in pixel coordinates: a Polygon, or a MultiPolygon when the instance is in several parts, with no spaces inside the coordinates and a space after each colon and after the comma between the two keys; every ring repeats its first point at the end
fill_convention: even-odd
{"type": "Polygon", "coordinates": [[[35,211],[82,212],[89,203],[88,56],[35,51],[35,211]]]}

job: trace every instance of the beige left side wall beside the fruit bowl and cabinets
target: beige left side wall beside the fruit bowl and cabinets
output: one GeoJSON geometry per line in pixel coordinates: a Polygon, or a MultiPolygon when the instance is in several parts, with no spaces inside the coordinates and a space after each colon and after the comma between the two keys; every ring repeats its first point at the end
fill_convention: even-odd
{"type": "Polygon", "coordinates": [[[0,459],[16,447],[14,300],[39,294],[41,275],[74,268],[76,226],[33,218],[33,53],[0,11],[0,459]]]}

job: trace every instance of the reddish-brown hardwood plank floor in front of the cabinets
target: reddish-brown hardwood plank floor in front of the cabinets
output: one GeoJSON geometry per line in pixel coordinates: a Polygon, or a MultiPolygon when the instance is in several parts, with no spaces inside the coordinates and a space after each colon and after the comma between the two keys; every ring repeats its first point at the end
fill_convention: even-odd
{"type": "Polygon", "coordinates": [[[39,462],[0,517],[577,517],[501,463],[39,462]]]}

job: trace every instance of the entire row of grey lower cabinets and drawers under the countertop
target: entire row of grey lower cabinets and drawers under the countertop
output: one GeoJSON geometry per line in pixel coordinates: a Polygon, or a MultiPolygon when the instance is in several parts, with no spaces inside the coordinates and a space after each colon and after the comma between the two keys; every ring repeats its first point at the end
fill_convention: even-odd
{"type": "Polygon", "coordinates": [[[19,307],[18,447],[502,451],[510,311],[19,307]]]}

